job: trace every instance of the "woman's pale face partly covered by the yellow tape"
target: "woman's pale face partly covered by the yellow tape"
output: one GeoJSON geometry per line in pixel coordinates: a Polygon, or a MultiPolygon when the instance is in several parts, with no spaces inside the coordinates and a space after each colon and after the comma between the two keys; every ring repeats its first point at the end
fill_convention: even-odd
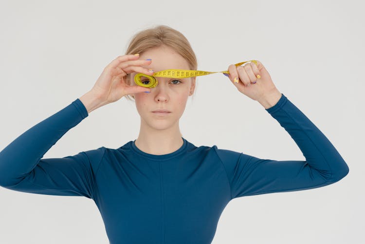
{"type": "MultiPolygon", "coordinates": [[[[166,46],[149,49],[140,55],[139,59],[151,58],[150,65],[143,66],[159,72],[168,69],[190,70],[187,61],[166,46]]],[[[131,85],[134,83],[134,75],[131,73],[131,85]]],[[[155,77],[158,85],[151,88],[151,93],[136,93],[134,95],[137,111],[141,116],[141,126],[147,126],[155,130],[165,130],[179,126],[179,119],[185,110],[186,101],[190,92],[194,92],[195,78],[168,78],[155,77]],[[165,109],[171,113],[158,114],[152,111],[165,109]]]]}

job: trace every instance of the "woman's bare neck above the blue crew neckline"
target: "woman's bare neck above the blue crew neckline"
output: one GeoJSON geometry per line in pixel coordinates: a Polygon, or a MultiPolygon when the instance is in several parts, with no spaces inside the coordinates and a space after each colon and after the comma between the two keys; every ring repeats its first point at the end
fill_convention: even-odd
{"type": "Polygon", "coordinates": [[[166,130],[147,129],[142,126],[135,141],[139,150],[149,154],[163,155],[174,152],[183,146],[183,138],[179,129],[179,124],[166,130]]]}

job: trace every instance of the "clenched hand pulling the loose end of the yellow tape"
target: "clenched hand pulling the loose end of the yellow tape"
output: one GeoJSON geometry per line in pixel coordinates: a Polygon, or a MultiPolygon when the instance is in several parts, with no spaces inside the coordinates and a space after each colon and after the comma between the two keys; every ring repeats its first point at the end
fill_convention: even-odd
{"type": "Polygon", "coordinates": [[[228,77],[231,82],[242,94],[245,94],[255,101],[260,101],[265,96],[269,96],[278,91],[269,72],[267,72],[260,61],[256,61],[257,66],[252,61],[245,63],[244,66],[231,64],[228,67],[229,74],[225,75],[229,75],[228,77]],[[259,75],[259,78],[256,75],[259,75]],[[234,82],[235,77],[238,78],[238,83],[234,82]]]}

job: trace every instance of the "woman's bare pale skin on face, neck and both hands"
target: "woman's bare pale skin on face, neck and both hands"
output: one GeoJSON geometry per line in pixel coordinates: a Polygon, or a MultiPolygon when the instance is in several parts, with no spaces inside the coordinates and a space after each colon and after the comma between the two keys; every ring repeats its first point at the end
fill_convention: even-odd
{"type": "MultiPolygon", "coordinates": [[[[148,69],[154,72],[167,69],[190,70],[187,61],[167,46],[149,49],[139,56],[119,56],[104,69],[93,88],[79,99],[90,113],[124,95],[134,96],[141,118],[135,145],[146,153],[162,155],[174,152],[183,145],[179,120],[188,97],[194,93],[196,77],[157,77],[158,85],[154,88],[138,86],[133,80],[130,85],[125,82],[127,74],[131,74],[132,79],[137,73],[151,75],[148,69]],[[147,58],[152,60],[145,60],[147,58]],[[150,93],[144,93],[145,91],[150,93]],[[156,109],[166,109],[171,113],[165,116],[152,113],[156,109]]],[[[237,90],[258,101],[265,109],[274,106],[280,99],[281,93],[258,60],[257,66],[252,62],[238,67],[232,64],[228,71],[229,79],[237,90]],[[261,77],[257,78],[256,75],[261,77]],[[238,83],[234,82],[234,77],[239,78],[238,83]]]]}

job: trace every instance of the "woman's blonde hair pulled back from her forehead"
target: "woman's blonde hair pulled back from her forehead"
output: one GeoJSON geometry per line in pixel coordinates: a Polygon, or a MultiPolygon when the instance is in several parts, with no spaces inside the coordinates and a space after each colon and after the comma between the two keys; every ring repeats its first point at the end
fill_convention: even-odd
{"type": "MultiPolygon", "coordinates": [[[[136,33],[129,42],[126,55],[142,55],[148,49],[162,45],[170,47],[176,53],[183,56],[191,70],[197,70],[198,61],[187,38],[185,38],[181,32],[166,25],[158,25],[136,33]]],[[[130,76],[130,74],[125,76],[125,82],[128,85],[132,84],[131,82],[134,82],[131,80],[130,76]]],[[[193,95],[194,94],[195,93],[193,93],[193,95]]],[[[134,98],[129,94],[125,97],[127,100],[134,101],[134,98]]]]}

